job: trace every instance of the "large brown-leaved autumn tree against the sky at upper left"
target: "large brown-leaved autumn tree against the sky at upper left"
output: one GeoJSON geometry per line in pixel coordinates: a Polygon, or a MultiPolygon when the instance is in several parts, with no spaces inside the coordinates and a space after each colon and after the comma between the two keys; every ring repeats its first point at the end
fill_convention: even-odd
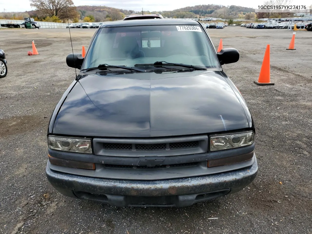
{"type": "Polygon", "coordinates": [[[73,19],[79,16],[72,0],[30,0],[30,6],[46,16],[56,16],[59,19],[73,19]],[[67,12],[66,12],[67,8],[67,12]]]}

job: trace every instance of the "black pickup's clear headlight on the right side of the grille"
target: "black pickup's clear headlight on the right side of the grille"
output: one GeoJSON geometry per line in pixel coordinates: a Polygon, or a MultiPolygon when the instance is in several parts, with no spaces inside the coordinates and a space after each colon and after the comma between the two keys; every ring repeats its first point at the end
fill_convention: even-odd
{"type": "Polygon", "coordinates": [[[255,141],[254,139],[255,139],[254,132],[211,136],[209,150],[217,151],[252,145],[255,141]]]}

